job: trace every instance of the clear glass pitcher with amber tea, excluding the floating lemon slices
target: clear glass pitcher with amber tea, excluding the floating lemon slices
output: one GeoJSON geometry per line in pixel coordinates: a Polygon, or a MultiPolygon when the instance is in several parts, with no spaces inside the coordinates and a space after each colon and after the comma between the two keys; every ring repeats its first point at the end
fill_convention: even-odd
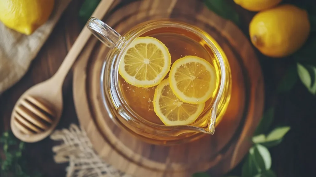
{"type": "Polygon", "coordinates": [[[89,19],[87,27],[110,48],[100,76],[101,95],[109,117],[119,127],[146,142],[160,145],[189,142],[215,133],[216,125],[228,107],[231,71],[223,50],[208,33],[172,19],[143,22],[122,36],[103,21],[93,17],[89,19]],[[164,124],[153,106],[154,92],[158,86],[137,87],[125,82],[120,75],[119,64],[124,60],[132,41],[139,37],[159,39],[170,52],[171,64],[183,56],[192,55],[204,58],[214,67],[214,90],[194,122],[181,125],[164,124]]]}

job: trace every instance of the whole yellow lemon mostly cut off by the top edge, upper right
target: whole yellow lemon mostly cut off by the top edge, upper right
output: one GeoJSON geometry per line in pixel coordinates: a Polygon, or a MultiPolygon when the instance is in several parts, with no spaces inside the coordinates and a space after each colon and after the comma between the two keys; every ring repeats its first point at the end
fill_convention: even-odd
{"type": "Polygon", "coordinates": [[[282,0],[234,0],[234,2],[242,8],[254,12],[270,9],[279,4],[281,1],[282,0]]]}

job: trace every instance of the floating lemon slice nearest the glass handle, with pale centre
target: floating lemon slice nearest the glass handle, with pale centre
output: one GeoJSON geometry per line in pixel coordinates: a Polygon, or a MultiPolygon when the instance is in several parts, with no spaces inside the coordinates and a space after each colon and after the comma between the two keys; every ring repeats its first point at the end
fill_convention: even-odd
{"type": "Polygon", "coordinates": [[[168,48],[158,39],[138,37],[123,54],[119,74],[137,87],[158,85],[170,70],[171,56],[168,48]]]}

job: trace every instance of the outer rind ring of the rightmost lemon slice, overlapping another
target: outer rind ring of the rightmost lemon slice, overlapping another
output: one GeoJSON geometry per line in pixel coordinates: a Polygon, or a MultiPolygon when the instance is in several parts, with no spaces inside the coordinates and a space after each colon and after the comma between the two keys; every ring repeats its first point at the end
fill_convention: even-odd
{"type": "Polygon", "coordinates": [[[187,97],[180,91],[177,87],[177,82],[174,79],[175,73],[177,71],[177,68],[181,66],[182,64],[189,63],[189,62],[199,62],[204,65],[210,71],[212,74],[212,78],[216,79],[216,73],[215,73],[215,68],[205,59],[197,57],[197,56],[184,56],[177,61],[173,63],[170,69],[169,73],[169,83],[171,90],[173,93],[178,97],[181,101],[185,103],[191,103],[191,104],[200,104],[200,103],[205,103],[210,97],[212,97],[213,91],[216,89],[216,85],[214,84],[214,80],[210,80],[210,89],[205,93],[204,97],[200,98],[192,98],[192,97],[187,97]]]}

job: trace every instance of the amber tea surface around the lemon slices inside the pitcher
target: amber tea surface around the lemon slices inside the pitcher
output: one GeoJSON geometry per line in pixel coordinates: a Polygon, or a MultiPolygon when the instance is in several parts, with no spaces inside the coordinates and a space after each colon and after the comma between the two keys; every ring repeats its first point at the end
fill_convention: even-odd
{"type": "MultiPolygon", "coordinates": [[[[171,55],[171,66],[173,62],[179,58],[189,55],[203,58],[214,66],[216,69],[217,87],[213,93],[213,96],[208,101],[206,101],[203,112],[196,120],[198,124],[205,124],[205,121],[202,119],[206,119],[210,112],[210,107],[212,106],[214,97],[217,94],[221,77],[218,60],[216,59],[216,55],[214,55],[211,47],[197,34],[177,27],[156,28],[144,33],[142,36],[157,38],[167,46],[171,55]]],[[[169,73],[165,78],[168,78],[168,75],[169,73]]],[[[120,75],[119,86],[126,103],[135,113],[137,113],[139,117],[155,124],[164,125],[160,118],[155,114],[153,108],[152,102],[156,86],[150,88],[132,86],[128,84],[120,75]]],[[[225,106],[227,107],[227,104],[228,103],[220,103],[218,108],[220,109],[225,106]]],[[[216,122],[218,122],[220,118],[221,117],[218,117],[216,122]]]]}

